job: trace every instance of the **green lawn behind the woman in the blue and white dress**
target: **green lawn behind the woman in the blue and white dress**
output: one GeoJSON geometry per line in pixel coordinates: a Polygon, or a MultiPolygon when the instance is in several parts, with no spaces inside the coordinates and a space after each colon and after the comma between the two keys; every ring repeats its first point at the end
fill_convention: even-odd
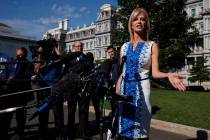
{"type": "MultiPolygon", "coordinates": [[[[152,89],[152,106],[159,108],[154,119],[210,130],[210,93],[152,89]]],[[[109,101],[104,107],[110,109],[109,101]]]]}

